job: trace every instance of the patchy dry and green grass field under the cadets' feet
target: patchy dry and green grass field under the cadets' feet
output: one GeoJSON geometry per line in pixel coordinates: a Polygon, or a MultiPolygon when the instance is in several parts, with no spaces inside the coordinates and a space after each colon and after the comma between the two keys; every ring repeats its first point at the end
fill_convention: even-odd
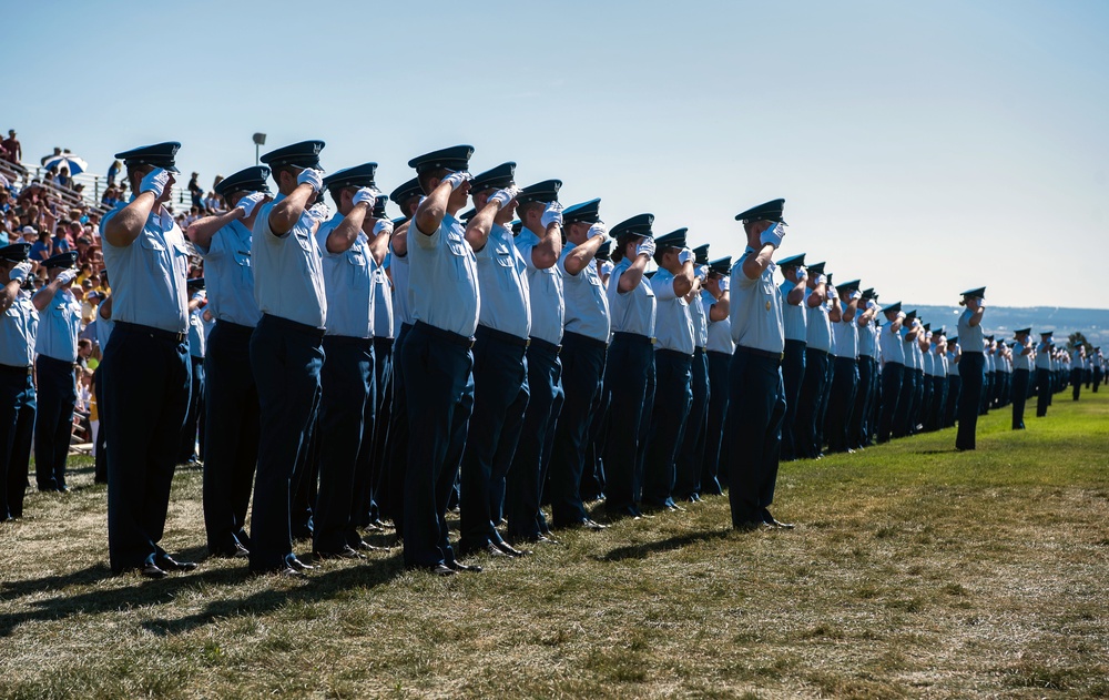
{"type": "MultiPolygon", "coordinates": [[[[733,532],[708,498],[450,579],[398,551],[113,577],[79,460],[0,526],[0,697],[1109,697],[1109,392],[1008,420],[975,453],[945,430],[783,465],[792,531],[733,532]]],[[[200,476],[163,541],[184,558],[200,476]]]]}

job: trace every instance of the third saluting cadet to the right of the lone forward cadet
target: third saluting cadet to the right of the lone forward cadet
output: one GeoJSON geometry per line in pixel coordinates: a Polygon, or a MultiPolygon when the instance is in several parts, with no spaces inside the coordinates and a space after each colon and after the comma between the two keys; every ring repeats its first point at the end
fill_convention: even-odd
{"type": "Polygon", "coordinates": [[[835,338],[835,369],[832,374],[832,389],[828,395],[827,417],[824,432],[827,435],[830,453],[854,452],[847,444],[847,430],[851,425],[851,414],[855,407],[855,392],[858,388],[858,334],[855,315],[858,312],[858,280],[845,282],[836,286],[842,308],[838,318],[836,310],[830,313],[832,333],[835,338]]]}

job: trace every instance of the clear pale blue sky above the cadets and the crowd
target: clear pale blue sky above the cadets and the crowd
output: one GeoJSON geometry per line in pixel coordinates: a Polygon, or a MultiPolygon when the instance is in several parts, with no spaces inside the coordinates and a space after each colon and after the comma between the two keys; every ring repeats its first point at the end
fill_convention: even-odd
{"type": "MultiPolygon", "coordinates": [[[[711,254],[784,196],[781,255],[884,301],[1103,308],[1109,2],[23,2],[3,121],[105,172],[176,140],[185,176],[327,142],[334,171],[456,143],[560,177],[610,224],[711,254]]],[[[179,186],[183,186],[184,182],[179,186]]],[[[396,213],[396,211],[394,211],[396,213]]]]}

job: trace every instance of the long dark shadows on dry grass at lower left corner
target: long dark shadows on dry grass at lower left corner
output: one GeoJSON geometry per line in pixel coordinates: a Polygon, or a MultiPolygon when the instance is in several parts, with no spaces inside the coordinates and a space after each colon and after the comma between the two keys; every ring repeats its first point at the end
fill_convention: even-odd
{"type": "MultiPolygon", "coordinates": [[[[316,602],[330,600],[353,588],[375,588],[403,575],[403,557],[399,554],[387,559],[373,559],[364,566],[344,567],[332,571],[315,571],[302,581],[289,586],[274,579],[275,586],[245,597],[230,597],[213,600],[203,610],[180,619],[153,619],[143,627],[159,636],[171,636],[211,623],[222,617],[242,612],[265,615],[291,602],[316,602]]],[[[49,576],[14,584],[0,585],[0,596],[6,601],[19,602],[19,598],[40,595],[43,590],[62,591],[70,586],[95,585],[112,576],[104,565],[96,565],[62,576],[49,576]]],[[[89,592],[24,602],[26,611],[0,615],[0,637],[9,637],[24,622],[64,620],[75,615],[110,612],[113,610],[157,606],[173,602],[182,594],[205,586],[234,586],[244,582],[248,574],[245,569],[213,569],[195,574],[171,575],[162,580],[139,579],[133,586],[113,590],[96,589],[89,592]]]]}

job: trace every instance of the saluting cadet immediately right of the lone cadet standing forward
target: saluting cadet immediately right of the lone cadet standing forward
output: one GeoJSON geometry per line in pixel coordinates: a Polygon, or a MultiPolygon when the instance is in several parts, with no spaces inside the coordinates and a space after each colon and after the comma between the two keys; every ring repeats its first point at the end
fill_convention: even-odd
{"type": "MultiPolygon", "coordinates": [[[[782,459],[793,461],[798,456],[796,448],[797,402],[801,399],[801,384],[805,378],[805,348],[808,331],[807,305],[804,303],[808,291],[808,273],[805,271],[805,254],[786,257],[779,262],[784,277],[779,292],[782,294],[782,322],[785,328],[785,356],[782,358],[782,382],[785,386],[785,418],[782,420],[782,459]]],[[[805,450],[807,456],[807,450],[805,450]]]]}

